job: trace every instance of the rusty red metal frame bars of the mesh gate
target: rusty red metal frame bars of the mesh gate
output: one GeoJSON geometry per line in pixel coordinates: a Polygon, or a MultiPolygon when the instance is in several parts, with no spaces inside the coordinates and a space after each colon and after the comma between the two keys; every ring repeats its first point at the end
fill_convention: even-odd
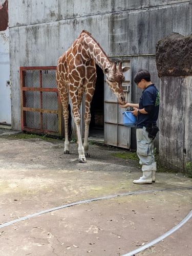
{"type": "Polygon", "coordinates": [[[20,94],[21,94],[21,126],[22,132],[34,132],[40,134],[48,134],[55,135],[59,137],[63,137],[63,118],[62,118],[62,104],[59,97],[59,93],[57,88],[42,88],[42,70],[56,70],[55,66],[51,67],[20,67],[20,94]],[[26,87],[25,86],[25,72],[27,70],[39,70],[39,87],[26,87]],[[26,91],[38,91],[40,92],[40,108],[27,108],[25,106],[25,92],[26,91]],[[42,108],[42,92],[55,92],[57,93],[57,110],[47,110],[42,108]],[[26,111],[31,112],[40,112],[40,129],[34,129],[27,127],[26,125],[26,111]],[[42,126],[42,114],[43,113],[52,113],[58,116],[58,131],[51,131],[47,129],[43,129],[42,126]]]}

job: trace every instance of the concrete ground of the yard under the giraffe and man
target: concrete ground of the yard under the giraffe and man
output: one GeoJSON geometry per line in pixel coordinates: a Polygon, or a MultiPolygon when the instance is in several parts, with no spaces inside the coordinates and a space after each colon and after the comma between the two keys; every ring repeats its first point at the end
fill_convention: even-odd
{"type": "MultiPolygon", "coordinates": [[[[173,228],[192,208],[192,189],[178,189],[191,187],[190,178],[157,173],[152,185],[133,184],[140,169],[112,156],[121,149],[90,145],[91,158],[82,164],[74,143],[63,155],[62,140],[7,135],[0,136],[0,224],[90,198],[174,190],[80,204],[0,228],[1,256],[122,255],[173,228]]],[[[192,219],[137,255],[192,255],[191,227],[192,219]]]]}

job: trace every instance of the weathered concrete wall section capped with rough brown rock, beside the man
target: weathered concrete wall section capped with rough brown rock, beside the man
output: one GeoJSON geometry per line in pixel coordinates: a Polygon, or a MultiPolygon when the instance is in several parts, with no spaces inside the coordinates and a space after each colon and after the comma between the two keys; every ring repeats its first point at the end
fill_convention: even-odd
{"type": "Polygon", "coordinates": [[[160,161],[178,170],[192,162],[192,36],[178,33],[158,41],[160,83],[160,161]]]}

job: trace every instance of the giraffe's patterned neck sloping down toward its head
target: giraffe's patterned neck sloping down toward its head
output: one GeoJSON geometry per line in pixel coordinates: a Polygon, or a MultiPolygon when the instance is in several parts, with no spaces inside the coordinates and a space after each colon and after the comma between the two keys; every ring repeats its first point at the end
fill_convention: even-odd
{"type": "Polygon", "coordinates": [[[111,61],[98,42],[88,34],[83,36],[83,47],[86,49],[88,56],[94,59],[102,70],[112,66],[111,61]]]}

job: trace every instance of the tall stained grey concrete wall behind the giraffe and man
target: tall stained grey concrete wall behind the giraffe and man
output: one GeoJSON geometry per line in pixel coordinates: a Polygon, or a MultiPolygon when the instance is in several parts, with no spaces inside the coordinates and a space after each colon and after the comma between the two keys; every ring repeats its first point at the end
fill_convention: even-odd
{"type": "MultiPolygon", "coordinates": [[[[86,29],[109,56],[132,59],[132,77],[146,68],[159,88],[156,42],[173,31],[191,33],[191,12],[190,1],[9,0],[14,129],[20,130],[19,66],[56,66],[58,57],[86,29]]],[[[141,90],[132,84],[132,101],[138,102],[141,90]]]]}

